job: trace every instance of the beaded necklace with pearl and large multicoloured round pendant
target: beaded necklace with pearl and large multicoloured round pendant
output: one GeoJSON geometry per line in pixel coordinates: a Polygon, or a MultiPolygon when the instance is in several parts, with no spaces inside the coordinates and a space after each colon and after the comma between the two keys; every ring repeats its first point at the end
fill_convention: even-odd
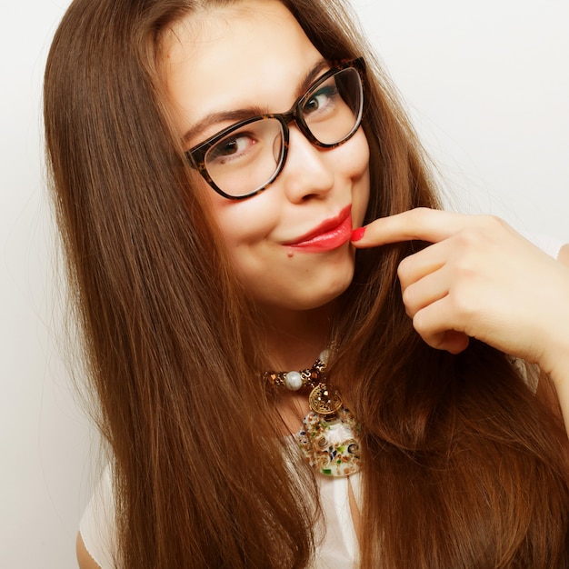
{"type": "Polygon", "coordinates": [[[300,372],[265,372],[263,380],[273,389],[300,391],[310,388],[310,412],[294,439],[308,463],[327,476],[348,476],[359,470],[360,427],[344,406],[342,396],[327,384],[324,371],[328,350],[318,356],[313,366],[300,372]]]}

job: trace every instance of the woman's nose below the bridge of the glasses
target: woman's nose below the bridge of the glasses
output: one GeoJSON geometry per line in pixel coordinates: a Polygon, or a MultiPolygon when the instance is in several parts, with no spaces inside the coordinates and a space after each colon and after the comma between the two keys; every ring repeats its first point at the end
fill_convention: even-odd
{"type": "Polygon", "coordinates": [[[284,193],[293,203],[326,195],[334,185],[331,149],[314,146],[298,129],[291,125],[288,154],[281,181],[284,193]]]}

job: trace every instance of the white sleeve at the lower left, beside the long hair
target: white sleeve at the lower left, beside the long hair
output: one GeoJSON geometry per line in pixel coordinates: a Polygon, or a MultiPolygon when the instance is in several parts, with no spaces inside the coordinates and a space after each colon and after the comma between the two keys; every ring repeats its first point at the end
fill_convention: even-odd
{"type": "Polygon", "coordinates": [[[115,501],[108,467],[85,508],[79,533],[87,552],[101,569],[115,569],[115,501]]]}

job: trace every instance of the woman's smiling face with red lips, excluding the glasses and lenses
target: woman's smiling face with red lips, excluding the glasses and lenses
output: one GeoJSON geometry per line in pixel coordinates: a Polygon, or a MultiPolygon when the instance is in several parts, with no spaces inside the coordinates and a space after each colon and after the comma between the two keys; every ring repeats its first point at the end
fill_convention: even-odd
{"type": "MultiPolygon", "coordinates": [[[[307,77],[312,83],[329,68],[277,1],[245,0],[191,15],[171,37],[167,87],[186,149],[235,117],[288,111],[307,77]]],[[[344,145],[322,149],[292,123],[284,169],[264,192],[234,201],[203,181],[198,189],[255,301],[306,310],[344,292],[354,274],[349,236],[368,201],[368,162],[361,128],[344,145]]]]}

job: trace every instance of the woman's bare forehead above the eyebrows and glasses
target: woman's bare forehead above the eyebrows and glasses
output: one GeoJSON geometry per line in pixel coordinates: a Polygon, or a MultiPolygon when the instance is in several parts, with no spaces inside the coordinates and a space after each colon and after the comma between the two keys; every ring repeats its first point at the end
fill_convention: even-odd
{"type": "Polygon", "coordinates": [[[245,0],[178,22],[168,38],[167,90],[181,133],[205,115],[288,110],[322,55],[276,0],[245,0]]]}

